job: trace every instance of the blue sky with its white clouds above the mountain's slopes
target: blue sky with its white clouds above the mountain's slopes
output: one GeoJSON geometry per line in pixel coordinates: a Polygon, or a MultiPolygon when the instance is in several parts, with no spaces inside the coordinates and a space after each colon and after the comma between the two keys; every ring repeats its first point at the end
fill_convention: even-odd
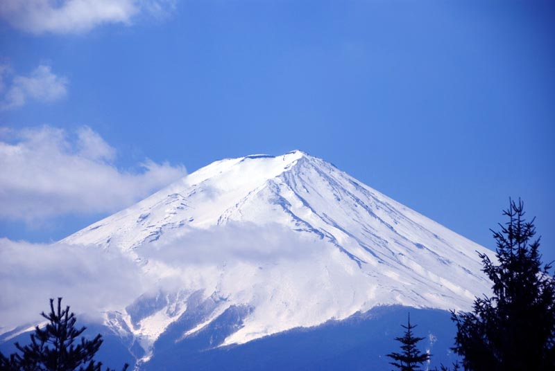
{"type": "Polygon", "coordinates": [[[300,149],[489,248],[522,197],[555,260],[554,28],[550,1],[3,1],[0,237],[300,149]]]}

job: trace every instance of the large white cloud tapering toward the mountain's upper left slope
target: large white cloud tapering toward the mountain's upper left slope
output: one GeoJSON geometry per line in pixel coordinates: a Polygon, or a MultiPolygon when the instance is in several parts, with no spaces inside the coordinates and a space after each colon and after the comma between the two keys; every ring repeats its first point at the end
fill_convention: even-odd
{"type": "Polygon", "coordinates": [[[119,170],[115,150],[89,127],[71,137],[49,126],[3,132],[0,218],[31,223],[130,206],[185,176],[185,168],[147,160],[142,172],[119,170]],[[11,140],[6,137],[10,136],[11,140]]]}

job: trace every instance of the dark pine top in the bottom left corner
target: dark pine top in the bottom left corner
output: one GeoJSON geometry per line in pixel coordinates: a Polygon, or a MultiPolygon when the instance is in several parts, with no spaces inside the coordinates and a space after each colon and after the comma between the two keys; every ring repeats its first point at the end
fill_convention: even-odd
{"type": "MultiPolygon", "coordinates": [[[[92,340],[78,337],[86,327],[76,329],[75,315],[69,307],[62,309],[62,298],[58,298],[58,309],[54,310],[54,300],[50,299],[50,313],[42,316],[49,323],[41,329],[35,327],[31,334],[31,343],[25,346],[15,343],[20,353],[10,357],[0,353],[0,370],[21,371],[100,371],[102,363],[93,360],[102,344],[102,336],[96,335],[92,340]]],[[[123,366],[123,371],[128,365],[123,366]]],[[[112,371],[107,369],[106,371],[112,371]]]]}

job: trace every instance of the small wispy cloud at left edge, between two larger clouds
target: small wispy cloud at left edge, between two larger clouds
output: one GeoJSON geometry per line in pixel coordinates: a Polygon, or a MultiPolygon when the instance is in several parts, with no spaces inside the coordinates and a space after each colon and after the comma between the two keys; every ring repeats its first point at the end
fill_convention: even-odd
{"type": "Polygon", "coordinates": [[[68,80],[41,64],[30,75],[14,75],[9,66],[0,66],[0,109],[22,107],[27,100],[54,102],[67,95],[68,80]],[[10,80],[9,82],[6,80],[10,80]]]}

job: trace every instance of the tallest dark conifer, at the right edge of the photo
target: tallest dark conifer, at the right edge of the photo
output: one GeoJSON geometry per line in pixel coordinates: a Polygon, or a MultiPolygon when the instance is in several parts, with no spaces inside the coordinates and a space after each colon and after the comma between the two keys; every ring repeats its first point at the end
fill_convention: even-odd
{"type": "Polygon", "coordinates": [[[471,313],[452,312],[453,350],[465,370],[555,370],[555,281],[541,262],[534,219],[524,219],[522,201],[510,200],[506,225],[493,232],[492,262],[479,254],[493,282],[493,296],[477,298],[471,313]]]}

